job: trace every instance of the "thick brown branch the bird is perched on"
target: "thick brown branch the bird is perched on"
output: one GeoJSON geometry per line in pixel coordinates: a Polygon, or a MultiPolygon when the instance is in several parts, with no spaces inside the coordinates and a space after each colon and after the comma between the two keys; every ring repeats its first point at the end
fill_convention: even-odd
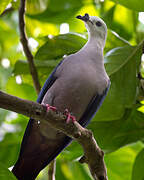
{"type": "Polygon", "coordinates": [[[0,107],[11,110],[35,120],[46,121],[50,126],[61,130],[76,139],[83,147],[84,156],[81,163],[86,162],[95,180],[107,180],[104,153],[98,147],[92,132],[84,129],[78,122],[65,122],[65,115],[60,112],[46,111],[44,105],[23,100],[0,91],[0,107]]]}

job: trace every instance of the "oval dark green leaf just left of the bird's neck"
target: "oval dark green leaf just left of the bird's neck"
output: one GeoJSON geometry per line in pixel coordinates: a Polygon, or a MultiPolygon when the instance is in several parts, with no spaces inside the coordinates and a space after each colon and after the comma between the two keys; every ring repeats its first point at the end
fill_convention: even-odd
{"type": "Polygon", "coordinates": [[[86,43],[86,39],[78,34],[62,34],[52,39],[39,48],[35,59],[48,60],[62,58],[63,55],[77,52],[86,43]]]}

